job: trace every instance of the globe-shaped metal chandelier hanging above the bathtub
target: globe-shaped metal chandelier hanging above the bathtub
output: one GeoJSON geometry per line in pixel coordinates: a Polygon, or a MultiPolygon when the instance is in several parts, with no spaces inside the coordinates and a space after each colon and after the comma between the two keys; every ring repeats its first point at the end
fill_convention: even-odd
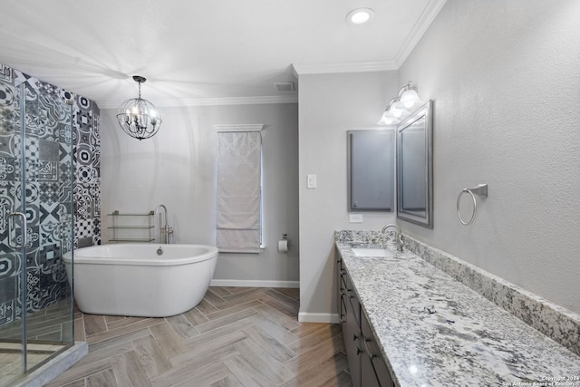
{"type": "Polygon", "coordinates": [[[133,81],[139,84],[139,97],[121,103],[117,120],[121,129],[131,137],[137,140],[149,139],[160,130],[160,112],[151,102],[141,98],[141,83],[147,79],[133,75],[133,81]]]}

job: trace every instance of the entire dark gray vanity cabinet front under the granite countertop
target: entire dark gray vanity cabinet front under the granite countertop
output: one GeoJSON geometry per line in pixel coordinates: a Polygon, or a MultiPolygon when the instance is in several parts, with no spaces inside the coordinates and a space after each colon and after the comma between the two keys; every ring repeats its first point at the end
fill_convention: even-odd
{"type": "Polygon", "coordinates": [[[371,325],[362,312],[353,283],[343,266],[337,261],[339,307],[343,324],[343,340],[353,387],[392,387],[391,374],[382,359],[381,351],[372,334],[371,325]]]}

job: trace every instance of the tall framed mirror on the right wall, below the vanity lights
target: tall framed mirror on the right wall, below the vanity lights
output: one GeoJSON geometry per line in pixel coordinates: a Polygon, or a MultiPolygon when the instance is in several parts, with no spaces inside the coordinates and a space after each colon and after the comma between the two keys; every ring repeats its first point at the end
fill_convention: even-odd
{"type": "Polygon", "coordinates": [[[432,101],[397,127],[397,218],[433,228],[432,101]]]}

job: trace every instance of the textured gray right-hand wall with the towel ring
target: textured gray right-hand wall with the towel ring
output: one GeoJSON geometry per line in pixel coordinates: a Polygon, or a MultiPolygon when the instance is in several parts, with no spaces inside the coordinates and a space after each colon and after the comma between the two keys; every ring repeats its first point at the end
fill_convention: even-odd
{"type": "Polygon", "coordinates": [[[435,101],[435,227],[403,231],[576,313],[578,20],[577,1],[449,0],[399,70],[435,101]],[[456,200],[478,183],[465,227],[456,200]]]}

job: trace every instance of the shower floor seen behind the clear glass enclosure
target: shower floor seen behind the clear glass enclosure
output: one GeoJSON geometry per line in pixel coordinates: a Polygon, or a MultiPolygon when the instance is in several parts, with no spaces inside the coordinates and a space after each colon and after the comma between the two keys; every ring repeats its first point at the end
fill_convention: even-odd
{"type": "MultiPolygon", "coordinates": [[[[73,343],[71,299],[26,316],[28,370],[45,363],[73,343]]],[[[0,327],[0,385],[22,375],[22,321],[0,327]]]]}

